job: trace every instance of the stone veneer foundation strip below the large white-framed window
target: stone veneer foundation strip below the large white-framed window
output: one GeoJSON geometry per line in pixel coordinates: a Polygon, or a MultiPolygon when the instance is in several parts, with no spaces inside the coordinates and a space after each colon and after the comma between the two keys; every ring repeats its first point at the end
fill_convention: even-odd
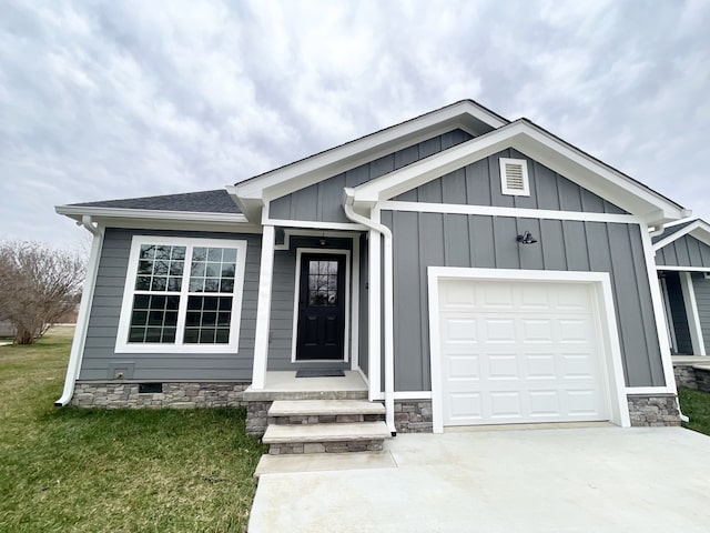
{"type": "Polygon", "coordinates": [[[244,405],[250,383],[163,382],[163,392],[139,392],[139,383],[77,383],[72,405],[81,408],[234,408],[244,405]]]}

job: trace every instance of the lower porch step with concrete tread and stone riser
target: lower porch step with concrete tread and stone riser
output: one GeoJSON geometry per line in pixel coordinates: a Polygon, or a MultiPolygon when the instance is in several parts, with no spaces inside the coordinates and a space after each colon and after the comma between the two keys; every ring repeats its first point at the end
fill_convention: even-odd
{"type": "Polygon", "coordinates": [[[384,422],[347,424],[270,424],[262,438],[268,453],[342,453],[381,451],[390,434],[384,422]]]}

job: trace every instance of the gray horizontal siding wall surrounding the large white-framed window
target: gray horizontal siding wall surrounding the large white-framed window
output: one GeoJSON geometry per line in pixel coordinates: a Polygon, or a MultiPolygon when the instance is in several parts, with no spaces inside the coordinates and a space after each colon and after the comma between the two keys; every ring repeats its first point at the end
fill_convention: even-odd
{"type": "Polygon", "coordinates": [[[251,381],[254,361],[261,235],[106,229],[79,380],[112,380],[112,369],[133,368],[131,380],[251,381]],[[133,235],[245,240],[239,353],[114,353],[133,235]]]}

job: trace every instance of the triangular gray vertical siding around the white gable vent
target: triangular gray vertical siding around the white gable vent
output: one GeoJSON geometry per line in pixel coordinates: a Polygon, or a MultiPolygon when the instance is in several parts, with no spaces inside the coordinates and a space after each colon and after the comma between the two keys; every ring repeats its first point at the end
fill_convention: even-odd
{"type": "Polygon", "coordinates": [[[607,200],[514,149],[504,150],[412,189],[393,200],[403,202],[494,205],[589,213],[626,213],[607,200]],[[499,158],[528,162],[529,197],[503,194],[499,158]]]}

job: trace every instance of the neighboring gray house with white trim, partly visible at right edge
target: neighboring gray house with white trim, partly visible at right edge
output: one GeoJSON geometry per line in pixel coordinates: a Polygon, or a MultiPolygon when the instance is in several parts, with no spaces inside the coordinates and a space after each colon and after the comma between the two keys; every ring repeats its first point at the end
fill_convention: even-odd
{"type": "Polygon", "coordinates": [[[669,224],[653,250],[677,381],[710,390],[710,224],[669,224]]]}

